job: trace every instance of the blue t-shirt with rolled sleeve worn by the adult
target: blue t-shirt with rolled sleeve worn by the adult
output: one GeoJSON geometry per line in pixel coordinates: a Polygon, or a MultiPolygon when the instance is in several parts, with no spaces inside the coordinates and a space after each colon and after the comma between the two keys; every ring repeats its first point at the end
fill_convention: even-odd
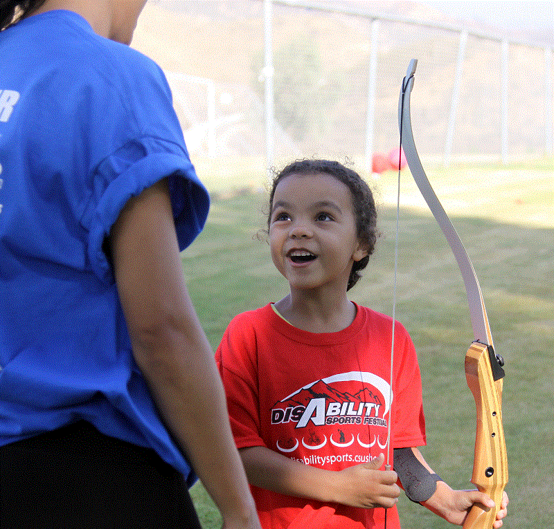
{"type": "Polygon", "coordinates": [[[0,445],[86,419],[193,482],[102,248],[129,198],[168,175],[183,249],[209,198],[157,64],[71,11],[0,32],[0,445]]]}

